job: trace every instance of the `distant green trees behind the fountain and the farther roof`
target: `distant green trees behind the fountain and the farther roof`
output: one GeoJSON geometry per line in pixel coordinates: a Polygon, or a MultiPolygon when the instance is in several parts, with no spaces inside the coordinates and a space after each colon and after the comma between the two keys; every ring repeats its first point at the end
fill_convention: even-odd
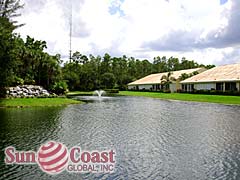
{"type": "MultiPolygon", "coordinates": [[[[94,90],[117,88],[124,90],[129,82],[152,73],[171,72],[197,67],[212,68],[213,65],[198,64],[193,60],[155,57],[153,63],[134,57],[103,57],[82,55],[75,52],[71,62],[63,67],[63,77],[70,90],[94,90]]],[[[185,77],[185,76],[184,76],[185,77]]],[[[183,78],[184,78],[183,77],[183,78]]],[[[185,77],[186,78],[186,77],[185,77]]],[[[159,80],[160,81],[160,80],[159,80]]]]}

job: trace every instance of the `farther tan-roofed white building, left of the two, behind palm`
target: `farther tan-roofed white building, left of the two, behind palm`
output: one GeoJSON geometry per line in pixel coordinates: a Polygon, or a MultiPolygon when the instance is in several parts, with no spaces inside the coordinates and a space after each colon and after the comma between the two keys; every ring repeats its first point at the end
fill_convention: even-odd
{"type": "MultiPolygon", "coordinates": [[[[171,92],[176,92],[178,89],[181,89],[180,84],[180,77],[182,74],[193,74],[195,72],[201,73],[205,71],[205,68],[194,68],[194,69],[186,69],[186,70],[180,70],[180,71],[172,71],[171,72],[171,78],[172,81],[169,85],[169,89],[171,92]]],[[[134,82],[131,82],[128,84],[129,90],[148,90],[148,91],[160,91],[163,89],[163,77],[168,76],[169,72],[165,73],[157,73],[157,74],[150,74],[146,77],[143,77],[141,79],[138,79],[134,82]]]]}

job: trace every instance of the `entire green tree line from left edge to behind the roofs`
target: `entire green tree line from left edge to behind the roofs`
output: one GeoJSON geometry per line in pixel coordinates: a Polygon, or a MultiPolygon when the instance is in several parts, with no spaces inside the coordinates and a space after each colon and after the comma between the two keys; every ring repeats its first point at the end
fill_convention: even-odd
{"type": "Polygon", "coordinates": [[[55,92],[70,90],[126,89],[127,84],[151,73],[170,72],[213,65],[193,60],[155,57],[153,62],[134,57],[103,57],[73,53],[63,64],[60,54],[46,53],[47,44],[27,36],[23,39],[14,30],[22,26],[13,17],[23,8],[19,0],[0,0],[0,96],[6,87],[37,84],[55,92]]]}

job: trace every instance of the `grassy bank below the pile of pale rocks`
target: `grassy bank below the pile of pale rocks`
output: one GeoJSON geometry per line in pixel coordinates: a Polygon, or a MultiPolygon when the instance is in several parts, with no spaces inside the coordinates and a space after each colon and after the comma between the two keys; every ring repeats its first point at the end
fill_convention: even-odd
{"type": "Polygon", "coordinates": [[[38,107],[38,106],[63,106],[68,104],[79,104],[68,98],[15,98],[0,99],[0,107],[38,107]]]}

